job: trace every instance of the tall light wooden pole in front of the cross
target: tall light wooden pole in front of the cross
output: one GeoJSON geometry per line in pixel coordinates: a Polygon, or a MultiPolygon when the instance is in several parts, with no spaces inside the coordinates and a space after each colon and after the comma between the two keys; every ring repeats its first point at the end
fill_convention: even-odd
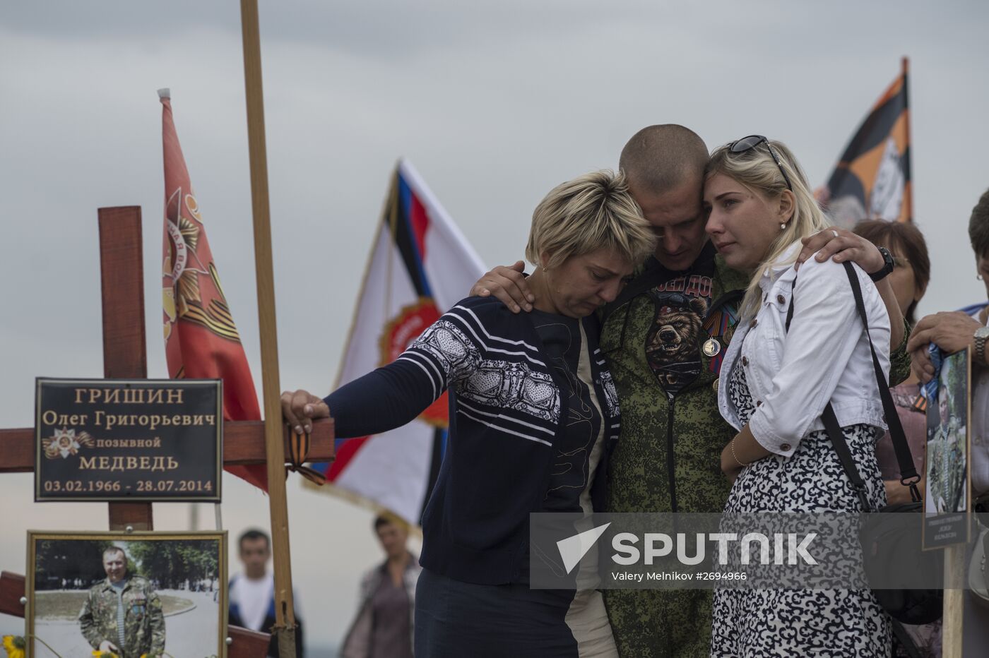
{"type": "Polygon", "coordinates": [[[271,216],[268,205],[268,156],[264,139],[264,94],[261,87],[261,39],[257,0],[240,0],[247,100],[247,142],[250,154],[251,205],[254,214],[254,261],[257,312],[261,336],[261,381],[268,464],[268,501],[275,562],[275,616],[281,658],[295,658],[296,616],[292,602],[289,510],[285,493],[285,448],[282,444],[281,386],[278,380],[278,336],[275,285],[271,264],[271,216]]]}

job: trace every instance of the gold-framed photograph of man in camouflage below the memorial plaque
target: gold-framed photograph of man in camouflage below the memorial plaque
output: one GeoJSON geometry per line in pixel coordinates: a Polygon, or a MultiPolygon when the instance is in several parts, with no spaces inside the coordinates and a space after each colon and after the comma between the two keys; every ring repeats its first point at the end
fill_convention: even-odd
{"type": "Polygon", "coordinates": [[[28,532],[29,656],[225,656],[226,533],[28,532]]]}

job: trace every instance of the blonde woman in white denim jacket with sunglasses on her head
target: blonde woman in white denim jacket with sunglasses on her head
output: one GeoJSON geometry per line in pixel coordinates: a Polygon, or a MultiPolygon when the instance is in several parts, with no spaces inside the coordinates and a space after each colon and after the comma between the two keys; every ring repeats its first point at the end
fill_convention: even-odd
{"type": "MultiPolygon", "coordinates": [[[[845,268],[818,259],[799,271],[794,266],[801,238],[828,227],[796,160],[783,144],[759,135],[723,146],[708,165],[704,206],[707,232],[725,262],[752,273],[718,387],[721,413],[738,430],[722,452],[722,470],[734,480],[725,511],[861,509],[823,431],[828,402],[869,504],[885,505],[875,459],[875,442],[885,431],[882,405],[845,268]]],[[[892,289],[885,281],[877,289],[868,275],[855,272],[888,375],[884,299],[892,289]]],[[[712,656],[878,657],[889,651],[888,619],[868,590],[715,592],[712,656]]]]}

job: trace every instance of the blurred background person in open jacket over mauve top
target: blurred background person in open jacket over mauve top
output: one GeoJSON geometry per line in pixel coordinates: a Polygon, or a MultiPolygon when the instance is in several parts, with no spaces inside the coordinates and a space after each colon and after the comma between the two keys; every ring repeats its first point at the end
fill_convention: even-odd
{"type": "Polygon", "coordinates": [[[379,516],[374,532],[385,561],[361,578],[357,617],[343,640],[340,658],[412,658],[415,583],[422,567],[405,546],[405,522],[379,516]]]}

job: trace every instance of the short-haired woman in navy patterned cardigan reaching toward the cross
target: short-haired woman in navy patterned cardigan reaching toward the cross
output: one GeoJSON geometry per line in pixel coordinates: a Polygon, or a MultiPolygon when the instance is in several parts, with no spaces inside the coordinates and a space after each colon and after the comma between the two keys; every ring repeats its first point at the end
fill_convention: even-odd
{"type": "Polygon", "coordinates": [[[601,510],[620,415],[593,313],[654,243],[621,174],[564,183],[532,215],[534,311],[469,297],[324,400],[282,395],[297,432],[332,410],[346,438],[401,426],[450,390],[449,446],[422,518],[419,658],[617,655],[598,592],[529,589],[528,524],[601,510]]]}

